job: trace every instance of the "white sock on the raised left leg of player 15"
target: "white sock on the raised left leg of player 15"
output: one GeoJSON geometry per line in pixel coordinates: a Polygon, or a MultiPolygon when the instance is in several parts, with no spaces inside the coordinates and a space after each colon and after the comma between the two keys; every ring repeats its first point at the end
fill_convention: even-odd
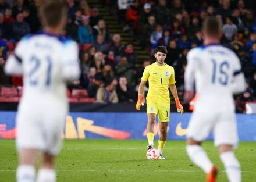
{"type": "Polygon", "coordinates": [[[209,173],[211,171],[213,166],[212,162],[200,145],[187,145],[186,149],[190,160],[192,160],[195,165],[204,170],[205,173],[209,173]]]}

